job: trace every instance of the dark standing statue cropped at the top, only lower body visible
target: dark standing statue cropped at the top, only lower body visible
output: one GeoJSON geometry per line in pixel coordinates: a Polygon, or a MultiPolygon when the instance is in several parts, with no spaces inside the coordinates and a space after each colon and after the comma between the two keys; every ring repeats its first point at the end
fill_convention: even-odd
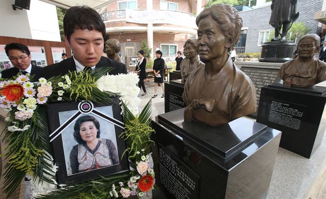
{"type": "Polygon", "coordinates": [[[271,41],[286,41],[286,34],[292,23],[299,17],[295,13],[297,0],[272,0],[269,24],[275,28],[275,37],[271,41]],[[280,33],[282,27],[282,33],[280,33]],[[281,38],[279,38],[279,35],[281,38]]]}

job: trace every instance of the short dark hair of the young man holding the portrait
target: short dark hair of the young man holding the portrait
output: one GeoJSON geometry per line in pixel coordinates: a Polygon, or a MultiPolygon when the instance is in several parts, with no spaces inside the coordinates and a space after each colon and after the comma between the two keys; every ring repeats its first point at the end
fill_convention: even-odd
{"type": "Polygon", "coordinates": [[[67,10],[63,18],[63,30],[68,41],[75,29],[96,30],[102,33],[103,40],[105,38],[105,24],[101,16],[88,6],[74,6],[67,10]]]}

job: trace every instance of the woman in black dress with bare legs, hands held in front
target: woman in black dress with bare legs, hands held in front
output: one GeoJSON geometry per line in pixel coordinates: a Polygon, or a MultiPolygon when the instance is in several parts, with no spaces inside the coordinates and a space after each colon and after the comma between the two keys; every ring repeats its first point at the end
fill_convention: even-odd
{"type": "Polygon", "coordinates": [[[154,83],[155,83],[155,94],[152,98],[157,97],[157,86],[158,83],[162,87],[163,94],[161,97],[164,97],[164,65],[165,62],[162,59],[162,51],[157,50],[156,52],[156,60],[154,60],[153,72],[154,72],[154,83]]]}

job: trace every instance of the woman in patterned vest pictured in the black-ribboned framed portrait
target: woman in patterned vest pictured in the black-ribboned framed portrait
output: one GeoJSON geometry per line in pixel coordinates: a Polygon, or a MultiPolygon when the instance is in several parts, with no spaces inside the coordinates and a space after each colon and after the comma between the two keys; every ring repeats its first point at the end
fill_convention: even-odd
{"type": "Polygon", "coordinates": [[[110,139],[100,138],[100,123],[94,117],[78,118],[73,129],[78,145],[70,152],[72,174],[119,163],[115,144],[110,139]]]}

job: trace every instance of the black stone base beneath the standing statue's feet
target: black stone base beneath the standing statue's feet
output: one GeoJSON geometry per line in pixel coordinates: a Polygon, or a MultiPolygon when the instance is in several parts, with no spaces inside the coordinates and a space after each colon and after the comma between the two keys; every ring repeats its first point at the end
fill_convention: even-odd
{"type": "Polygon", "coordinates": [[[261,45],[259,62],[287,62],[292,60],[295,43],[293,41],[264,42],[261,45]]]}

